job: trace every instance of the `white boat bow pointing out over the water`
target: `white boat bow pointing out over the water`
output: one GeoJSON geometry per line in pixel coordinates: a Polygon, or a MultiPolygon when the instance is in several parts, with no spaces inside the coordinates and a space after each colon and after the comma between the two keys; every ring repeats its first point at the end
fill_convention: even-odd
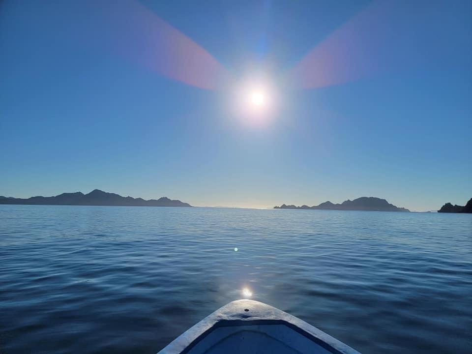
{"type": "Polygon", "coordinates": [[[182,333],[159,354],[359,354],[275,307],[236,300],[182,333]]]}

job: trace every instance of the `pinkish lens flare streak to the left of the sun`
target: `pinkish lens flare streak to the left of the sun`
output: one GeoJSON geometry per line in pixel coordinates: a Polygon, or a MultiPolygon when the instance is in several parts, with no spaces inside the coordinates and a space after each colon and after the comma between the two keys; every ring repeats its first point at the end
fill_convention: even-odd
{"type": "Polygon", "coordinates": [[[229,72],[191,38],[136,0],[99,2],[103,47],[173,80],[220,89],[229,72]]]}

